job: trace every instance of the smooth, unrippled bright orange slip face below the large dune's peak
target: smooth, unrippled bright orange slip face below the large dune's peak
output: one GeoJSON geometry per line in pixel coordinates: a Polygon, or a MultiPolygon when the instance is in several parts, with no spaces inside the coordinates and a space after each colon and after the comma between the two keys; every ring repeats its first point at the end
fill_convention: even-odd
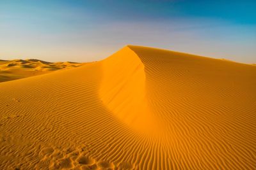
{"type": "Polygon", "coordinates": [[[129,46],[102,61],[100,99],[122,122],[152,133],[154,117],[148,110],[144,64],[129,46]]]}

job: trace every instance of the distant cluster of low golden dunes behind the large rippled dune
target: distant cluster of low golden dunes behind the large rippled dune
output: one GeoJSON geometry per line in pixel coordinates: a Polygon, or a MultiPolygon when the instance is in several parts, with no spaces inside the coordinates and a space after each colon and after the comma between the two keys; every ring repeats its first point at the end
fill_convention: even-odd
{"type": "Polygon", "coordinates": [[[0,82],[51,73],[58,69],[82,66],[75,62],[45,62],[43,60],[0,60],[0,82]]]}

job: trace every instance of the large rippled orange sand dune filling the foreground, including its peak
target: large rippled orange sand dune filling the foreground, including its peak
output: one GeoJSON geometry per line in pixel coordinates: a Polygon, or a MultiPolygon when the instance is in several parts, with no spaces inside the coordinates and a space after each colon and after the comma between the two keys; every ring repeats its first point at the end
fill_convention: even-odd
{"type": "Polygon", "coordinates": [[[140,46],[0,83],[0,169],[255,169],[256,67],[140,46]]]}

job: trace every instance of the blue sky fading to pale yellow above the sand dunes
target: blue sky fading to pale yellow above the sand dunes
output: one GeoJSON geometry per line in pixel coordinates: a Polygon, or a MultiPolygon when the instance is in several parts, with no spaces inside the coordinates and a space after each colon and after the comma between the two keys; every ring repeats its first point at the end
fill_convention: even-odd
{"type": "Polygon", "coordinates": [[[0,0],[0,59],[90,62],[140,45],[256,63],[255,9],[255,0],[0,0]]]}

